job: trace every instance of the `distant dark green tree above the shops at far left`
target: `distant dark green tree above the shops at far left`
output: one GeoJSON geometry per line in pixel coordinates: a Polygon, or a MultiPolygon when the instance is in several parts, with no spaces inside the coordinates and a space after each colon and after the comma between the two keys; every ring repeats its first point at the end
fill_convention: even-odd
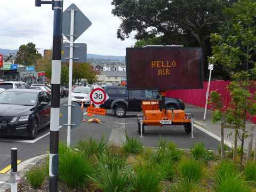
{"type": "Polygon", "coordinates": [[[35,64],[35,60],[41,58],[42,55],[36,50],[36,45],[30,42],[19,47],[16,62],[20,65],[30,66],[35,64]]]}

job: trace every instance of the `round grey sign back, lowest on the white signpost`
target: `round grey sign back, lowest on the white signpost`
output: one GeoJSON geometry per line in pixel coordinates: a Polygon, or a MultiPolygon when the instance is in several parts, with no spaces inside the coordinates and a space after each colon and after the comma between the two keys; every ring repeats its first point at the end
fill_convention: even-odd
{"type": "MultiPolygon", "coordinates": [[[[76,102],[71,102],[71,106],[71,129],[75,129],[83,121],[83,111],[76,102]]],[[[68,102],[60,105],[60,125],[68,126],[68,102]]]]}

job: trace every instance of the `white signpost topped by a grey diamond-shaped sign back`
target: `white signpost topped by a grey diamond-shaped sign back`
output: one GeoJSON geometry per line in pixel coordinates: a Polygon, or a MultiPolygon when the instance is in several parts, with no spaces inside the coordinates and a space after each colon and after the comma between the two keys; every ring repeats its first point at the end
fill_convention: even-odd
{"type": "MultiPolygon", "coordinates": [[[[71,92],[72,92],[72,75],[73,75],[73,60],[74,60],[74,41],[84,33],[92,25],[91,21],[85,17],[83,12],[73,3],[63,12],[62,33],[70,41],[69,47],[69,86],[68,86],[68,131],[67,131],[67,145],[70,146],[71,134],[71,92]]],[[[86,46],[85,46],[86,47],[86,46]]],[[[78,48],[78,47],[76,47],[78,48]]],[[[65,50],[62,50],[62,53],[65,50]]],[[[86,53],[86,52],[85,52],[86,53]]],[[[63,57],[62,57],[63,58],[63,57]]]]}

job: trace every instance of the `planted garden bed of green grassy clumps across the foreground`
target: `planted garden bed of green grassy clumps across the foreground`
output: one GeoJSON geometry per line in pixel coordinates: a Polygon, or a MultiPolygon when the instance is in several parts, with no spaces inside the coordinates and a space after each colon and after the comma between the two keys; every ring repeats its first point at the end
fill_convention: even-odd
{"type": "MultiPolygon", "coordinates": [[[[80,141],[76,149],[60,143],[59,191],[256,191],[256,164],[234,164],[228,153],[220,163],[219,154],[202,142],[182,150],[161,140],[154,149],[127,135],[123,147],[109,146],[103,138],[80,141]]],[[[48,167],[46,161],[28,171],[18,191],[48,191],[48,167]]]]}

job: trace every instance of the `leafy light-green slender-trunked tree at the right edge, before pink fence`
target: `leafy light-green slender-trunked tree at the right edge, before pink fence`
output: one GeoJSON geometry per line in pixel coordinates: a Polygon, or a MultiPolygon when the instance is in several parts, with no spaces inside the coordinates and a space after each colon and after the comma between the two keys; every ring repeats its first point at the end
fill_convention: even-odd
{"type": "MultiPolygon", "coordinates": [[[[232,102],[227,111],[222,112],[221,106],[214,111],[214,121],[225,121],[235,125],[234,160],[237,155],[238,130],[245,130],[246,113],[256,114],[255,94],[251,94],[249,87],[256,79],[256,4],[253,0],[241,0],[226,10],[229,22],[221,26],[221,34],[212,34],[214,63],[228,74],[234,82],[229,86],[232,102]],[[222,118],[223,116],[223,118],[222,118]]],[[[212,97],[219,98],[217,92],[212,97]]],[[[215,102],[218,100],[215,100],[215,102]]],[[[218,101],[219,102],[219,101],[218,101]]],[[[241,137],[241,163],[243,161],[244,139],[241,137]]]]}

